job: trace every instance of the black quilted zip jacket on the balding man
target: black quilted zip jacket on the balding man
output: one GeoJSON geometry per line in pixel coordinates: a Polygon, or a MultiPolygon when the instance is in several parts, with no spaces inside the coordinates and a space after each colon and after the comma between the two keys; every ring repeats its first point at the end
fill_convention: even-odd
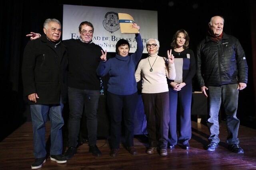
{"type": "Polygon", "coordinates": [[[197,47],[196,76],[200,87],[247,84],[248,66],[238,39],[223,33],[217,43],[207,36],[197,47]]]}

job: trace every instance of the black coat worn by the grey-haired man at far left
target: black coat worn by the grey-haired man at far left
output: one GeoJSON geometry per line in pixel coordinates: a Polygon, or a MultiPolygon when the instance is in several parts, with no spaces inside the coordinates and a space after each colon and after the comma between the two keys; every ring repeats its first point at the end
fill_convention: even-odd
{"type": "Polygon", "coordinates": [[[62,42],[55,48],[46,35],[28,42],[22,63],[24,95],[37,93],[39,97],[37,103],[28,100],[29,104],[59,104],[60,97],[66,100],[67,55],[62,42]]]}

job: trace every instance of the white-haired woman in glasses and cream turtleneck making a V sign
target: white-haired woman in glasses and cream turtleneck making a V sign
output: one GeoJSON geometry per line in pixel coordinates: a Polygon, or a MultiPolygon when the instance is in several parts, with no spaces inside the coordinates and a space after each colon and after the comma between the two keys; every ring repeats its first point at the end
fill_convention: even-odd
{"type": "Polygon", "coordinates": [[[149,139],[148,154],[154,154],[159,148],[161,156],[167,155],[168,123],[169,123],[169,93],[166,77],[174,80],[176,77],[174,56],[167,51],[168,59],[158,56],[159,41],[148,39],[148,57],[142,59],[135,72],[136,81],[142,78],[142,100],[147,119],[149,139]]]}

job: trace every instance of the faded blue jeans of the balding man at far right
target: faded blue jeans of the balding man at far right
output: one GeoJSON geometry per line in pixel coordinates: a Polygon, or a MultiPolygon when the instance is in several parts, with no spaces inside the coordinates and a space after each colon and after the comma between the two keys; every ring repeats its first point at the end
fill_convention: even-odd
{"type": "Polygon", "coordinates": [[[209,118],[207,125],[210,130],[210,142],[219,143],[220,138],[218,137],[219,121],[218,113],[220,106],[224,106],[226,114],[226,126],[228,131],[228,137],[226,143],[239,144],[238,128],[239,119],[236,117],[236,111],[238,106],[238,93],[237,84],[225,84],[222,86],[209,86],[207,90],[208,94],[208,113],[209,118]]]}

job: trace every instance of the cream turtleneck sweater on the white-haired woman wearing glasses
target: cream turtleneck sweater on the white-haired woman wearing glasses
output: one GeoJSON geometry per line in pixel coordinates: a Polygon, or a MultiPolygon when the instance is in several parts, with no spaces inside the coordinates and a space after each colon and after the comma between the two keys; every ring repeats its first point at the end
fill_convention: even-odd
{"type": "Polygon", "coordinates": [[[165,57],[160,57],[157,53],[149,54],[146,59],[140,61],[135,72],[136,82],[140,81],[141,77],[142,93],[168,92],[166,77],[174,80],[176,71],[174,64],[168,64],[168,59],[165,57]]]}

